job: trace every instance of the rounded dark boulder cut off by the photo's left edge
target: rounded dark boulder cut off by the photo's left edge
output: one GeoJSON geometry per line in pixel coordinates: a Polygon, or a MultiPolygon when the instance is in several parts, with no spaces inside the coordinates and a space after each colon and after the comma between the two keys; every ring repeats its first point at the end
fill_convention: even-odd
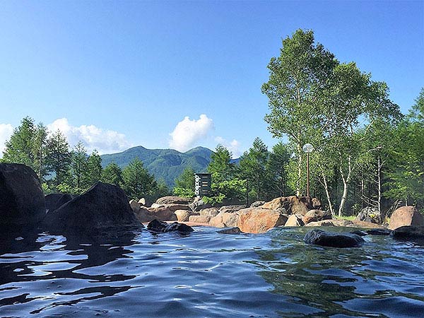
{"type": "Polygon", "coordinates": [[[33,225],[46,213],[40,180],[26,165],[0,163],[0,225],[33,225]]]}

